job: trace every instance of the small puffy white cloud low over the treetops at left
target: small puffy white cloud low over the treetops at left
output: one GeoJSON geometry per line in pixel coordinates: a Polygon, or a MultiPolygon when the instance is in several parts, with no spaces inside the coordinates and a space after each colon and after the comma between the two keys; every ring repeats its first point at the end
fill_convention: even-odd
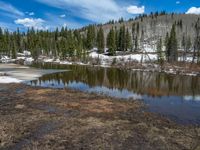
{"type": "Polygon", "coordinates": [[[41,18],[24,18],[24,19],[17,19],[14,21],[15,24],[23,25],[24,27],[31,28],[34,27],[35,29],[44,30],[47,27],[44,26],[44,20],[41,18]]]}

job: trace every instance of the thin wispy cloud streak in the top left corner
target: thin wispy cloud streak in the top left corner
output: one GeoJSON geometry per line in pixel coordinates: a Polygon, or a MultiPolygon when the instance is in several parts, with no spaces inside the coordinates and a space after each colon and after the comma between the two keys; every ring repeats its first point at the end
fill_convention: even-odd
{"type": "Polygon", "coordinates": [[[0,1],[0,10],[11,13],[11,14],[15,14],[17,16],[23,16],[24,13],[19,11],[17,8],[15,8],[14,6],[12,6],[11,4],[5,3],[0,1]]]}

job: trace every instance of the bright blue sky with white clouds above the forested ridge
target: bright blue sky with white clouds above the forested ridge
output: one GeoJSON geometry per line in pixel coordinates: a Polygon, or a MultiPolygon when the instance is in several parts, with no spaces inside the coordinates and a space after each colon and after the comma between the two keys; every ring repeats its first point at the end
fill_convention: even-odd
{"type": "Polygon", "coordinates": [[[0,27],[75,29],[163,10],[200,14],[200,0],[0,0],[0,27]]]}

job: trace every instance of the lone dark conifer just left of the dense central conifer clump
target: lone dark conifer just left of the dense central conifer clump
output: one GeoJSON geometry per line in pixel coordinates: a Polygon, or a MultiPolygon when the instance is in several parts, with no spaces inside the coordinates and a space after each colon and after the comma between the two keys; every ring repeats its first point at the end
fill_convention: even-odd
{"type": "Polygon", "coordinates": [[[97,33],[97,48],[99,53],[104,52],[104,33],[102,27],[100,27],[97,33]]]}

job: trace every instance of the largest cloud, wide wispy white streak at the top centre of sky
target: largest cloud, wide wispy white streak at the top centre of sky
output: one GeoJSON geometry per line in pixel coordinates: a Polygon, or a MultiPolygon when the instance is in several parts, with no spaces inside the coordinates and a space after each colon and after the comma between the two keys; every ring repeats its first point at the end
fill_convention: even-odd
{"type": "Polygon", "coordinates": [[[115,0],[37,0],[52,7],[67,10],[72,16],[93,22],[106,22],[110,19],[127,17],[129,14],[115,0]]]}

